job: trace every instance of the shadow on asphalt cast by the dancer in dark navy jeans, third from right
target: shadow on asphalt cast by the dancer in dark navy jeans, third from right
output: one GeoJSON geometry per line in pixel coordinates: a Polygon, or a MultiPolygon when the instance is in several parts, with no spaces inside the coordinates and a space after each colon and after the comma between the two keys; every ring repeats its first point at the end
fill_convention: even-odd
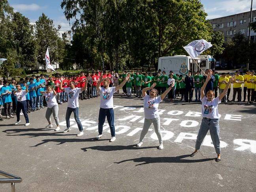
{"type": "MultiPolygon", "coordinates": [[[[64,135],[61,135],[61,136],[64,136],[64,135]]],[[[48,142],[56,142],[56,143],[58,143],[57,145],[61,145],[63,143],[88,142],[88,141],[109,141],[109,139],[96,140],[95,137],[88,138],[88,139],[65,139],[65,138],[62,138],[62,139],[43,139],[41,143],[38,143],[38,144],[36,144],[34,146],[30,146],[30,147],[38,147],[39,145],[43,145],[43,144],[48,143],[48,142]]]]}

